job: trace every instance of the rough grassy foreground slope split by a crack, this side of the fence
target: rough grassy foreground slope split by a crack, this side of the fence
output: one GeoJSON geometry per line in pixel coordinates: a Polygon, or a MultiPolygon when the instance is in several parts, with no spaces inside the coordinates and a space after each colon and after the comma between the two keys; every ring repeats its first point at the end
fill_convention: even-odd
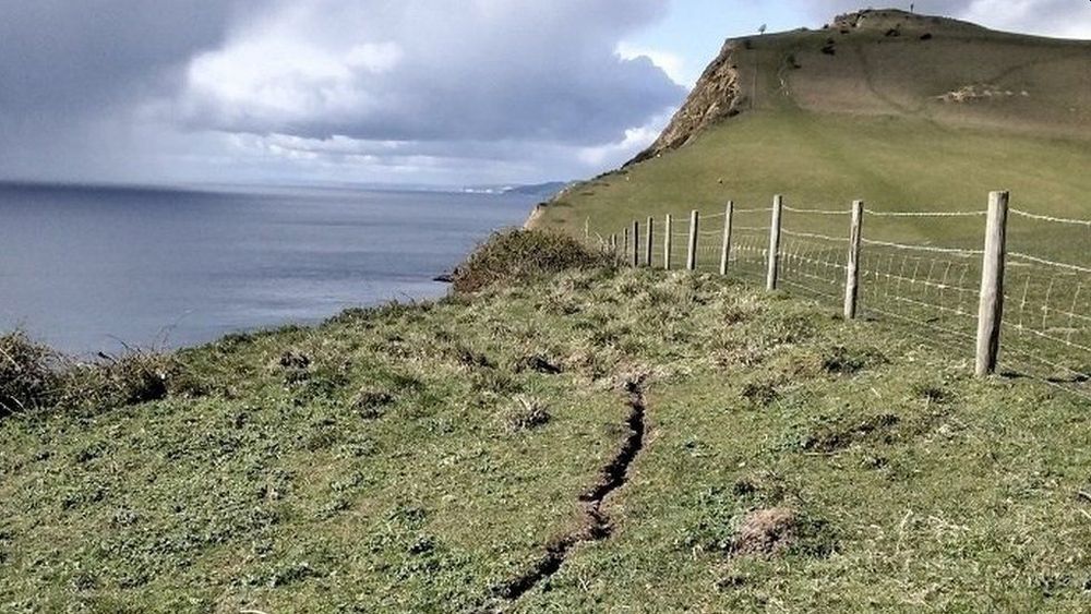
{"type": "Polygon", "coordinates": [[[0,423],[0,610],[1088,607],[1086,405],[730,280],[568,274],[181,358],[207,395],[0,423]],[[571,530],[633,373],[613,537],[493,601],[571,530]],[[518,395],[552,420],[505,428],[518,395]],[[796,545],[732,556],[775,505],[796,545]]]}

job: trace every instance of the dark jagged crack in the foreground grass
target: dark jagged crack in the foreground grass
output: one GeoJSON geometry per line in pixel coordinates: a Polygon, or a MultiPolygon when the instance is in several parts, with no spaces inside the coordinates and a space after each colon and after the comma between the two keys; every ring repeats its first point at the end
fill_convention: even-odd
{"type": "Polygon", "coordinates": [[[611,493],[625,485],[628,481],[628,469],[633,460],[644,448],[645,404],[644,380],[626,382],[631,409],[626,425],[628,436],[622,444],[618,455],[602,470],[601,479],[579,496],[584,505],[583,527],[546,546],[546,554],[525,574],[502,585],[496,594],[507,601],[516,601],[540,582],[556,574],[564,565],[568,553],[579,543],[604,540],[610,537],[613,527],[602,511],[602,502],[611,493]]]}

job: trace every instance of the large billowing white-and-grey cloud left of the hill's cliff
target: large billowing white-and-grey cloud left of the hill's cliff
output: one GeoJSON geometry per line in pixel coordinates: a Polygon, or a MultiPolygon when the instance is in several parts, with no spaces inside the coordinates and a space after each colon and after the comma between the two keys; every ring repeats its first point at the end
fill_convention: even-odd
{"type": "Polygon", "coordinates": [[[684,95],[651,59],[614,52],[666,7],[292,2],[196,57],[176,112],[253,134],[601,144],[684,95]]]}

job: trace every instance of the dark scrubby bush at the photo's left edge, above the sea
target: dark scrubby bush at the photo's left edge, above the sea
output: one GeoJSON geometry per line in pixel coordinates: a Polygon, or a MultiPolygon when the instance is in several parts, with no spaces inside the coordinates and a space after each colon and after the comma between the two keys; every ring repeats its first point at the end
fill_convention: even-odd
{"type": "Polygon", "coordinates": [[[58,387],[58,360],[22,332],[0,336],[0,418],[49,405],[58,387]]]}

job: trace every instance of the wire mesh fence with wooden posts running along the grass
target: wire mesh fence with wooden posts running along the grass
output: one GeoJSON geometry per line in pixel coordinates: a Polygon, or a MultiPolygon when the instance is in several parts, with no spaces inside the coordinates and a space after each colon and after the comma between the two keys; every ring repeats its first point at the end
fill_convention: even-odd
{"type": "Polygon", "coordinates": [[[979,373],[984,360],[986,372],[1091,399],[1091,220],[1008,206],[1006,193],[995,204],[880,212],[793,207],[778,196],[771,207],[730,204],[634,225],[624,242],[599,240],[628,264],[719,272],[841,305],[847,317],[904,324],[976,360],[979,373]]]}

